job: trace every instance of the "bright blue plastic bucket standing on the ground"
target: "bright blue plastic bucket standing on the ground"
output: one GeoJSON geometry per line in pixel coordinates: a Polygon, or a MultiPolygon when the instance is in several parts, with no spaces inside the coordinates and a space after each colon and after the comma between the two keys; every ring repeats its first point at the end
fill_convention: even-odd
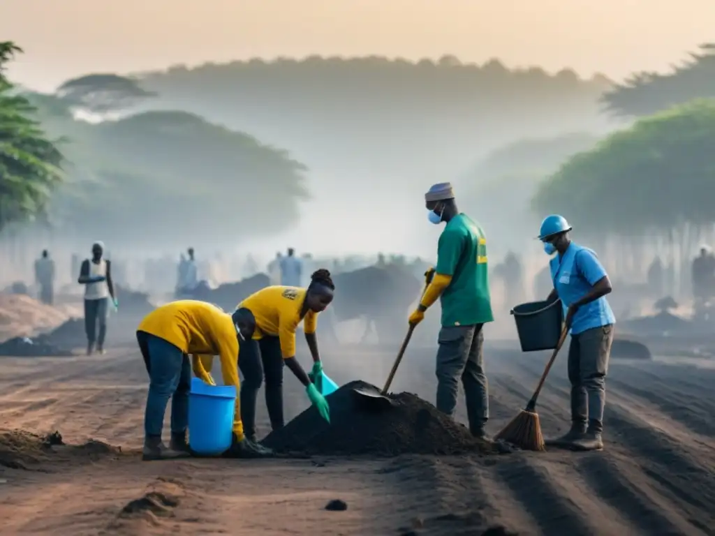
{"type": "Polygon", "coordinates": [[[232,441],[236,387],[192,378],[189,392],[189,447],[199,455],[225,452],[232,441]]]}

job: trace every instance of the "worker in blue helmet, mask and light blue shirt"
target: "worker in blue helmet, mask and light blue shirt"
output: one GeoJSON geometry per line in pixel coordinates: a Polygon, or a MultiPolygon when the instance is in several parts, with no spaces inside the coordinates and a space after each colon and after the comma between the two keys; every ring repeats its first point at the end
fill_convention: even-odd
{"type": "Polygon", "coordinates": [[[568,379],[571,382],[571,430],[546,445],[575,450],[603,449],[606,372],[613,342],[613,316],[605,296],[611,292],[606,269],[591,249],[571,242],[571,226],[558,214],[541,223],[538,239],[547,255],[553,290],[548,301],[561,299],[565,324],[571,329],[568,379]]]}

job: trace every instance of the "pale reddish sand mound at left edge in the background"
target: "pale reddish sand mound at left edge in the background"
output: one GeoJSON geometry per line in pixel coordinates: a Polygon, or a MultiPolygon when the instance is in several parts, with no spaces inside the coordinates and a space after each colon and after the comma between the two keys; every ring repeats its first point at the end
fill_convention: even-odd
{"type": "Polygon", "coordinates": [[[0,341],[32,337],[66,322],[69,315],[24,294],[0,294],[0,341]]]}

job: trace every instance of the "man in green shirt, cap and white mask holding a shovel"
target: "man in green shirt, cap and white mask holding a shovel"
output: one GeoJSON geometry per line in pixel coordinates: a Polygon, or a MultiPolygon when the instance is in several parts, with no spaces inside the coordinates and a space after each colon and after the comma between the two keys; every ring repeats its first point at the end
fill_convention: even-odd
{"type": "Polygon", "coordinates": [[[418,308],[410,315],[415,326],[440,297],[442,329],[437,351],[437,409],[453,416],[459,380],[467,402],[469,430],[488,440],[488,382],[482,347],[485,322],[494,317],[489,295],[487,247],[484,232],[473,219],[458,211],[452,185],[435,184],[425,194],[433,224],[445,222],[437,247],[437,267],[418,308]]]}

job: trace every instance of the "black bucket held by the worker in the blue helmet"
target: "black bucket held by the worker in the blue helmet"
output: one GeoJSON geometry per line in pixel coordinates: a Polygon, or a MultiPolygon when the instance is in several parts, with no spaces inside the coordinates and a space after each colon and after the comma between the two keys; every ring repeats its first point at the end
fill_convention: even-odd
{"type": "Polygon", "coordinates": [[[516,320],[522,352],[553,350],[558,346],[563,324],[561,300],[517,305],[511,311],[516,320]]]}

